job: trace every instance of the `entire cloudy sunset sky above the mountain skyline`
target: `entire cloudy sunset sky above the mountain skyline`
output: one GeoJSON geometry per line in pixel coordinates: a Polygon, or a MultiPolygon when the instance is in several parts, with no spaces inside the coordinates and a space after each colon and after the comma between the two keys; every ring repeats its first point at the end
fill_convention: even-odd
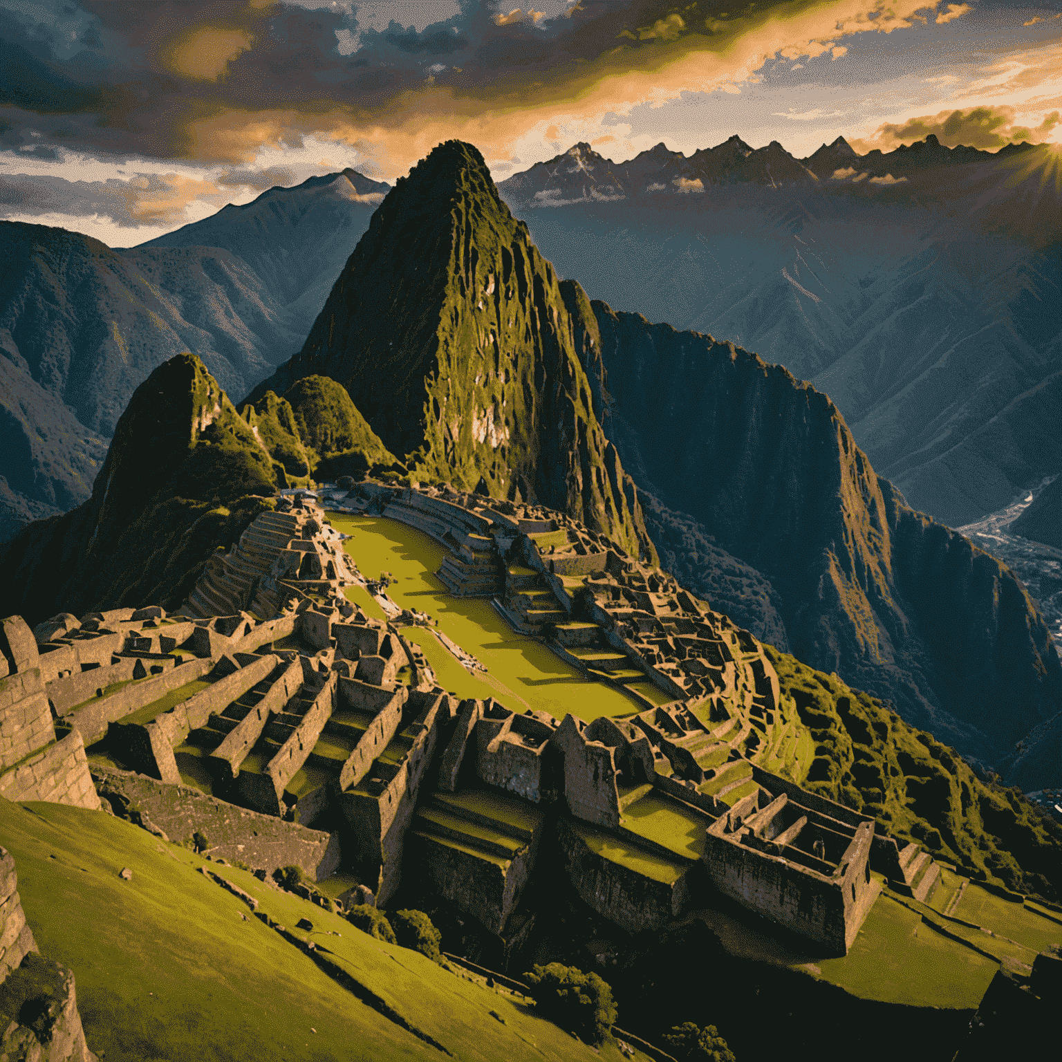
{"type": "Polygon", "coordinates": [[[1062,143],[1062,0],[0,0],[0,218],[131,246],[274,185],[736,133],[1062,143]]]}

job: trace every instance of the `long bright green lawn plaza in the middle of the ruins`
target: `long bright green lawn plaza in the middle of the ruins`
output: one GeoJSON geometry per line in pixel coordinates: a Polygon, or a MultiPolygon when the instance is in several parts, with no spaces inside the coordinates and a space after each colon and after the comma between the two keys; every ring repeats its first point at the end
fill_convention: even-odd
{"type": "MultiPolygon", "coordinates": [[[[376,579],[381,571],[390,571],[395,577],[387,590],[391,600],[438,619],[447,637],[489,669],[486,674],[473,675],[427,631],[404,631],[404,636],[421,646],[444,688],[461,697],[495,697],[514,712],[538,708],[558,719],[569,712],[589,721],[639,710],[639,704],[626,693],[587,682],[541,641],[518,635],[490,601],[452,597],[434,575],[447,550],[429,535],[384,517],[337,512],[328,516],[337,531],[353,535],[343,548],[363,576],[376,579]]],[[[362,587],[353,588],[347,597],[366,615],[383,618],[382,610],[362,587]]]]}

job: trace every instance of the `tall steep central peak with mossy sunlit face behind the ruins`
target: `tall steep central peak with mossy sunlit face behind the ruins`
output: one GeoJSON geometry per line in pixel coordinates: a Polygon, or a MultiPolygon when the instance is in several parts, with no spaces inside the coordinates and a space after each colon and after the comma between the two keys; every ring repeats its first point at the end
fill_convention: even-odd
{"type": "Polygon", "coordinates": [[[398,181],[302,352],[250,400],[308,375],[341,382],[413,478],[535,499],[655,556],[553,269],[472,145],[398,181]]]}

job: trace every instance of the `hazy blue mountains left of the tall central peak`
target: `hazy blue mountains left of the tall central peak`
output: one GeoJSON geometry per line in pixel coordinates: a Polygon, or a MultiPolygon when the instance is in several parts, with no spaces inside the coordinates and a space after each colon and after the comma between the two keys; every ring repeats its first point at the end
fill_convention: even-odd
{"type": "Polygon", "coordinates": [[[0,541],[88,498],[133,392],[175,354],[242,395],[296,350],[387,190],[312,177],[124,251],[0,222],[0,541]]]}

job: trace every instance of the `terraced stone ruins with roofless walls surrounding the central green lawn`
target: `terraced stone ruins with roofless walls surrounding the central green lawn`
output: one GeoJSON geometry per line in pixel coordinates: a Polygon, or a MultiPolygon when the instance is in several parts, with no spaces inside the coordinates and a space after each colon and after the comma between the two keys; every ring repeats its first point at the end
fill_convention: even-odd
{"type": "Polygon", "coordinates": [[[145,787],[153,808],[179,794],[148,828],[179,840],[209,815],[250,864],[302,860],[319,880],[342,864],[380,904],[414,868],[507,955],[533,926],[525,891],[543,838],[582,900],[628,931],[722,895],[827,954],[846,952],[873,904],[871,869],[918,898],[939,873],[777,773],[795,766],[799,726],[755,638],[534,506],[376,482],[286,492],[211,558],[179,615],[63,615],[35,637],[4,622],[11,688],[36,708],[0,714],[13,742],[0,792],[98,806],[84,749],[101,742],[135,772],[93,766],[113,806],[145,787]],[[427,618],[361,575],[325,507],[429,534],[447,548],[450,593],[492,600],[589,683],[623,689],[630,715],[558,720],[440,687],[402,634],[427,618]],[[390,618],[347,600],[353,585],[390,618]],[[41,755],[55,770],[27,775],[41,755]],[[58,769],[67,757],[80,774],[58,769]],[[263,822],[286,836],[269,852],[251,840],[263,822]]]}

